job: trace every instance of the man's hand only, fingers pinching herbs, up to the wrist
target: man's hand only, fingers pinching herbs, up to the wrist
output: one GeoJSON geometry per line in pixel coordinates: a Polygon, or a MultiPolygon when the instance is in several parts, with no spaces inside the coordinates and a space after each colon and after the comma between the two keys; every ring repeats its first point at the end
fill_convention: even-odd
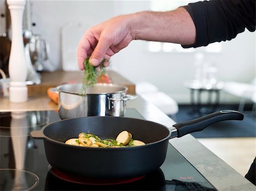
{"type": "Polygon", "coordinates": [[[79,69],[84,69],[84,60],[89,55],[93,66],[98,66],[104,58],[104,66],[108,66],[110,57],[133,40],[129,20],[127,15],[121,15],[89,28],[77,49],[79,69]]]}

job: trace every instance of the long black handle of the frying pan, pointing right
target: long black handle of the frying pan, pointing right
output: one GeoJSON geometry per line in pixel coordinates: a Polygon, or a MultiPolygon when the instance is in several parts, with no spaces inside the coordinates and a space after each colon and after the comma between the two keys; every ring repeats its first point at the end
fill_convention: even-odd
{"type": "Polygon", "coordinates": [[[177,129],[177,137],[182,137],[189,133],[201,131],[216,122],[225,120],[243,120],[243,114],[233,110],[222,110],[196,118],[195,120],[180,122],[173,126],[177,129]]]}

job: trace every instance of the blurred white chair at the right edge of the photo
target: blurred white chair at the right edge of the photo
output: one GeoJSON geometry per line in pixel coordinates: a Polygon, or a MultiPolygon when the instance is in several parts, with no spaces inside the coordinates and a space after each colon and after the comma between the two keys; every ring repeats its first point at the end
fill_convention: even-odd
{"type": "Polygon", "coordinates": [[[225,82],[223,90],[231,95],[240,97],[238,111],[243,112],[246,101],[254,101],[256,96],[256,78],[250,83],[225,82]]]}

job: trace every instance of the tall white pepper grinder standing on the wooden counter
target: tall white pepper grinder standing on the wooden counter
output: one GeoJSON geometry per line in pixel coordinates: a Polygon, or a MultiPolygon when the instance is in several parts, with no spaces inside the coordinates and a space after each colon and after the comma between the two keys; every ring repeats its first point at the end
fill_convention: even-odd
{"type": "Polygon", "coordinates": [[[11,52],[9,58],[10,102],[27,101],[27,65],[22,37],[23,12],[26,0],[7,0],[11,14],[11,52]]]}

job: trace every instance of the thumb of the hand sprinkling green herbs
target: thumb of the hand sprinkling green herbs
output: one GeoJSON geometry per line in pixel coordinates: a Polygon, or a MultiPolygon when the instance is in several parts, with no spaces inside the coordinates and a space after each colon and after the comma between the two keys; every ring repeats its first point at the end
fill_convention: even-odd
{"type": "Polygon", "coordinates": [[[109,40],[100,37],[98,44],[96,45],[92,55],[90,56],[90,63],[92,63],[93,66],[98,66],[104,59],[104,56],[108,51],[109,47],[109,40]]]}

